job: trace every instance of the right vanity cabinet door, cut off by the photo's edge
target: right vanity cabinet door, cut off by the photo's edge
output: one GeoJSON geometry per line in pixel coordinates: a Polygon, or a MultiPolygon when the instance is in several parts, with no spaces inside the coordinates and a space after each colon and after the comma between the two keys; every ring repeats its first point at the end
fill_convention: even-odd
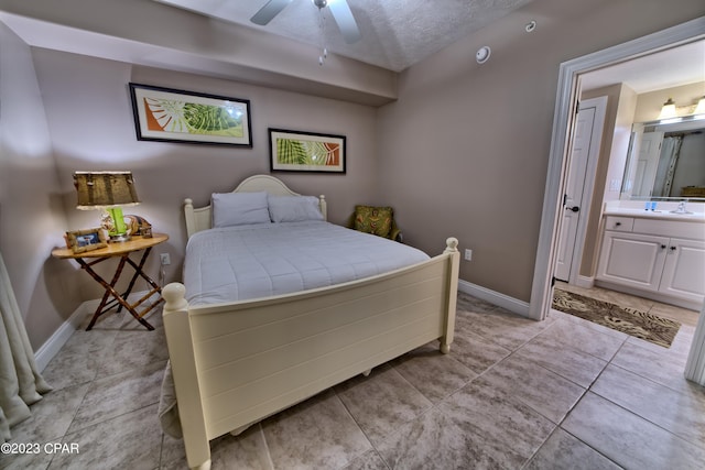
{"type": "Polygon", "coordinates": [[[705,298],[705,242],[672,238],[660,292],[702,303],[705,298]]]}

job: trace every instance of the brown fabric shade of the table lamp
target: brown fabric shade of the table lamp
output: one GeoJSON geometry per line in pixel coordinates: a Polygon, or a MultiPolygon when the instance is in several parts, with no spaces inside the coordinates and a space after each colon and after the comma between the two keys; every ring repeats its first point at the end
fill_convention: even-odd
{"type": "Polygon", "coordinates": [[[133,206],[140,203],[132,172],[76,172],[78,209],[133,206]]]}

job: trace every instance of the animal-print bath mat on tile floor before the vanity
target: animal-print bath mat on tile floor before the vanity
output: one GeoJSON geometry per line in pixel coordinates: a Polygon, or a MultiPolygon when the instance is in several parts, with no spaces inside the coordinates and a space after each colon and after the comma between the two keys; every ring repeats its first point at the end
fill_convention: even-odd
{"type": "Polygon", "coordinates": [[[552,308],[670,348],[681,324],[658,315],[554,289],[552,308]]]}

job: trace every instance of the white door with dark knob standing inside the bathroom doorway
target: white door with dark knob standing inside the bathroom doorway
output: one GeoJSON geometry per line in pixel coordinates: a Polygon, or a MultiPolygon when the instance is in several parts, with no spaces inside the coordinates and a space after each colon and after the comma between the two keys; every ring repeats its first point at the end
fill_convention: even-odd
{"type": "Polygon", "coordinates": [[[593,136],[596,134],[601,138],[603,131],[603,121],[596,119],[597,108],[592,101],[581,102],[578,108],[573,147],[571,150],[571,166],[565,184],[565,206],[563,208],[563,222],[554,272],[554,276],[564,282],[571,281],[571,271],[574,269],[574,262],[579,265],[579,260],[574,260],[574,258],[576,258],[575,248],[578,223],[583,215],[583,199],[585,198],[585,203],[589,204],[586,193],[592,193],[592,185],[589,187],[590,190],[586,192],[588,162],[592,157],[596,159],[599,151],[599,144],[596,143],[593,136]],[[599,123],[599,125],[596,125],[596,123],[599,123]],[[597,127],[599,129],[596,129],[597,127]]]}

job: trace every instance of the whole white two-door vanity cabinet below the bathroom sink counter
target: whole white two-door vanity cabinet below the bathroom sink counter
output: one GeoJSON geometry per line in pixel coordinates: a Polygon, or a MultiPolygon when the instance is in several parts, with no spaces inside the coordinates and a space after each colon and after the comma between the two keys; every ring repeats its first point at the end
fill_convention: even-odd
{"type": "Polygon", "coordinates": [[[697,308],[705,299],[705,223],[607,216],[598,284],[697,308]]]}

